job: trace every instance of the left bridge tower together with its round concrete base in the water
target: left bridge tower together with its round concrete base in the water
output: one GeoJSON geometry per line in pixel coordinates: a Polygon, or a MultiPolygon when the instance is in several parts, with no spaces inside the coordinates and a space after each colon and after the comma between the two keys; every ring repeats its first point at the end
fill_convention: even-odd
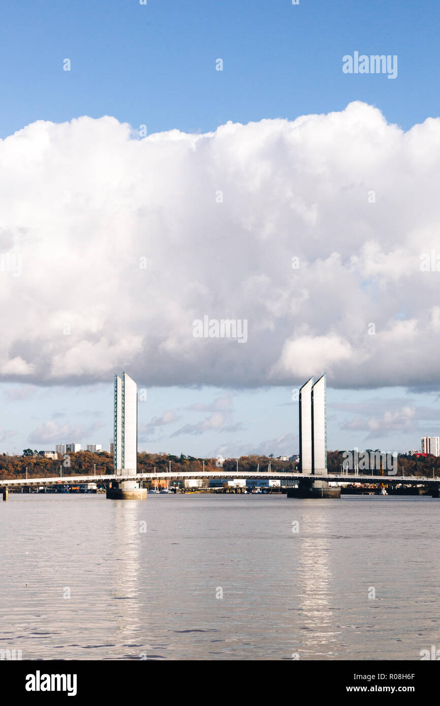
{"type": "Polygon", "coordinates": [[[114,375],[114,474],[129,478],[112,484],[107,498],[141,500],[147,491],[136,479],[138,463],[138,388],[124,371],[114,375]],[[133,477],[133,480],[130,480],[133,477]]]}

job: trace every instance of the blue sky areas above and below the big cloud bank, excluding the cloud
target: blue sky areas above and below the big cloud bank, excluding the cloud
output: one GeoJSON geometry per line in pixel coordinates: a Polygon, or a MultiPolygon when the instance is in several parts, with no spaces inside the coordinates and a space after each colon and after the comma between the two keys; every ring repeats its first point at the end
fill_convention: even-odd
{"type": "MultiPolygon", "coordinates": [[[[38,120],[83,115],[145,124],[149,134],[204,133],[227,121],[342,111],[356,100],[405,131],[440,114],[435,0],[5,0],[0,13],[0,138],[38,120]],[[345,75],[343,56],[355,51],[398,55],[398,77],[345,75]],[[71,71],[63,70],[66,58],[71,71]],[[219,58],[222,71],[215,70],[219,58]]],[[[0,394],[0,450],[64,441],[35,440],[35,430],[51,420],[52,431],[56,424],[63,433],[77,429],[77,441],[108,448],[111,378],[71,388],[8,379],[0,394]]],[[[418,448],[421,433],[440,433],[437,395],[435,381],[426,392],[330,389],[328,448],[418,448]]],[[[139,445],[193,455],[297,453],[290,397],[288,386],[148,388],[139,424],[150,431],[139,445]],[[215,414],[219,399],[229,400],[225,429],[208,424],[198,433],[196,424],[215,414]],[[195,404],[205,409],[188,409],[195,404]],[[167,410],[174,421],[151,425],[167,410]],[[172,436],[186,424],[194,429],[172,436]]]]}

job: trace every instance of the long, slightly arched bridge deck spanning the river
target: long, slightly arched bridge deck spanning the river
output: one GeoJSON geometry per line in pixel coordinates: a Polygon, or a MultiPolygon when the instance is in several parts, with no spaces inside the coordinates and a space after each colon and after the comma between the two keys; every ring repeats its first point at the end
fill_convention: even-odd
{"type": "Polygon", "coordinates": [[[14,487],[14,486],[33,486],[33,485],[72,485],[72,484],[83,484],[83,483],[95,483],[96,481],[123,481],[123,480],[180,480],[180,479],[197,479],[197,478],[225,478],[230,479],[262,479],[270,478],[273,480],[301,480],[304,478],[310,478],[313,480],[325,480],[332,483],[388,483],[388,484],[417,484],[417,483],[440,483],[440,478],[432,478],[427,476],[373,476],[371,474],[328,474],[328,475],[312,475],[307,473],[288,473],[288,472],[242,472],[242,471],[180,471],[180,472],[156,472],[156,473],[138,473],[136,476],[128,475],[87,475],[87,476],[57,476],[54,478],[28,478],[28,479],[18,479],[18,480],[0,480],[0,487],[14,487]]]}

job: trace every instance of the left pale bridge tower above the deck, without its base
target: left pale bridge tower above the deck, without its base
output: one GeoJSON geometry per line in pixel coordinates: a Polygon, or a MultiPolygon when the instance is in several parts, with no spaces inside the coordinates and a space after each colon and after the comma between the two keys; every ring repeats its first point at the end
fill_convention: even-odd
{"type": "Polygon", "coordinates": [[[138,460],[138,388],[126,373],[114,376],[113,467],[117,475],[136,476],[138,460]],[[123,472],[123,473],[122,473],[123,472]]]}

